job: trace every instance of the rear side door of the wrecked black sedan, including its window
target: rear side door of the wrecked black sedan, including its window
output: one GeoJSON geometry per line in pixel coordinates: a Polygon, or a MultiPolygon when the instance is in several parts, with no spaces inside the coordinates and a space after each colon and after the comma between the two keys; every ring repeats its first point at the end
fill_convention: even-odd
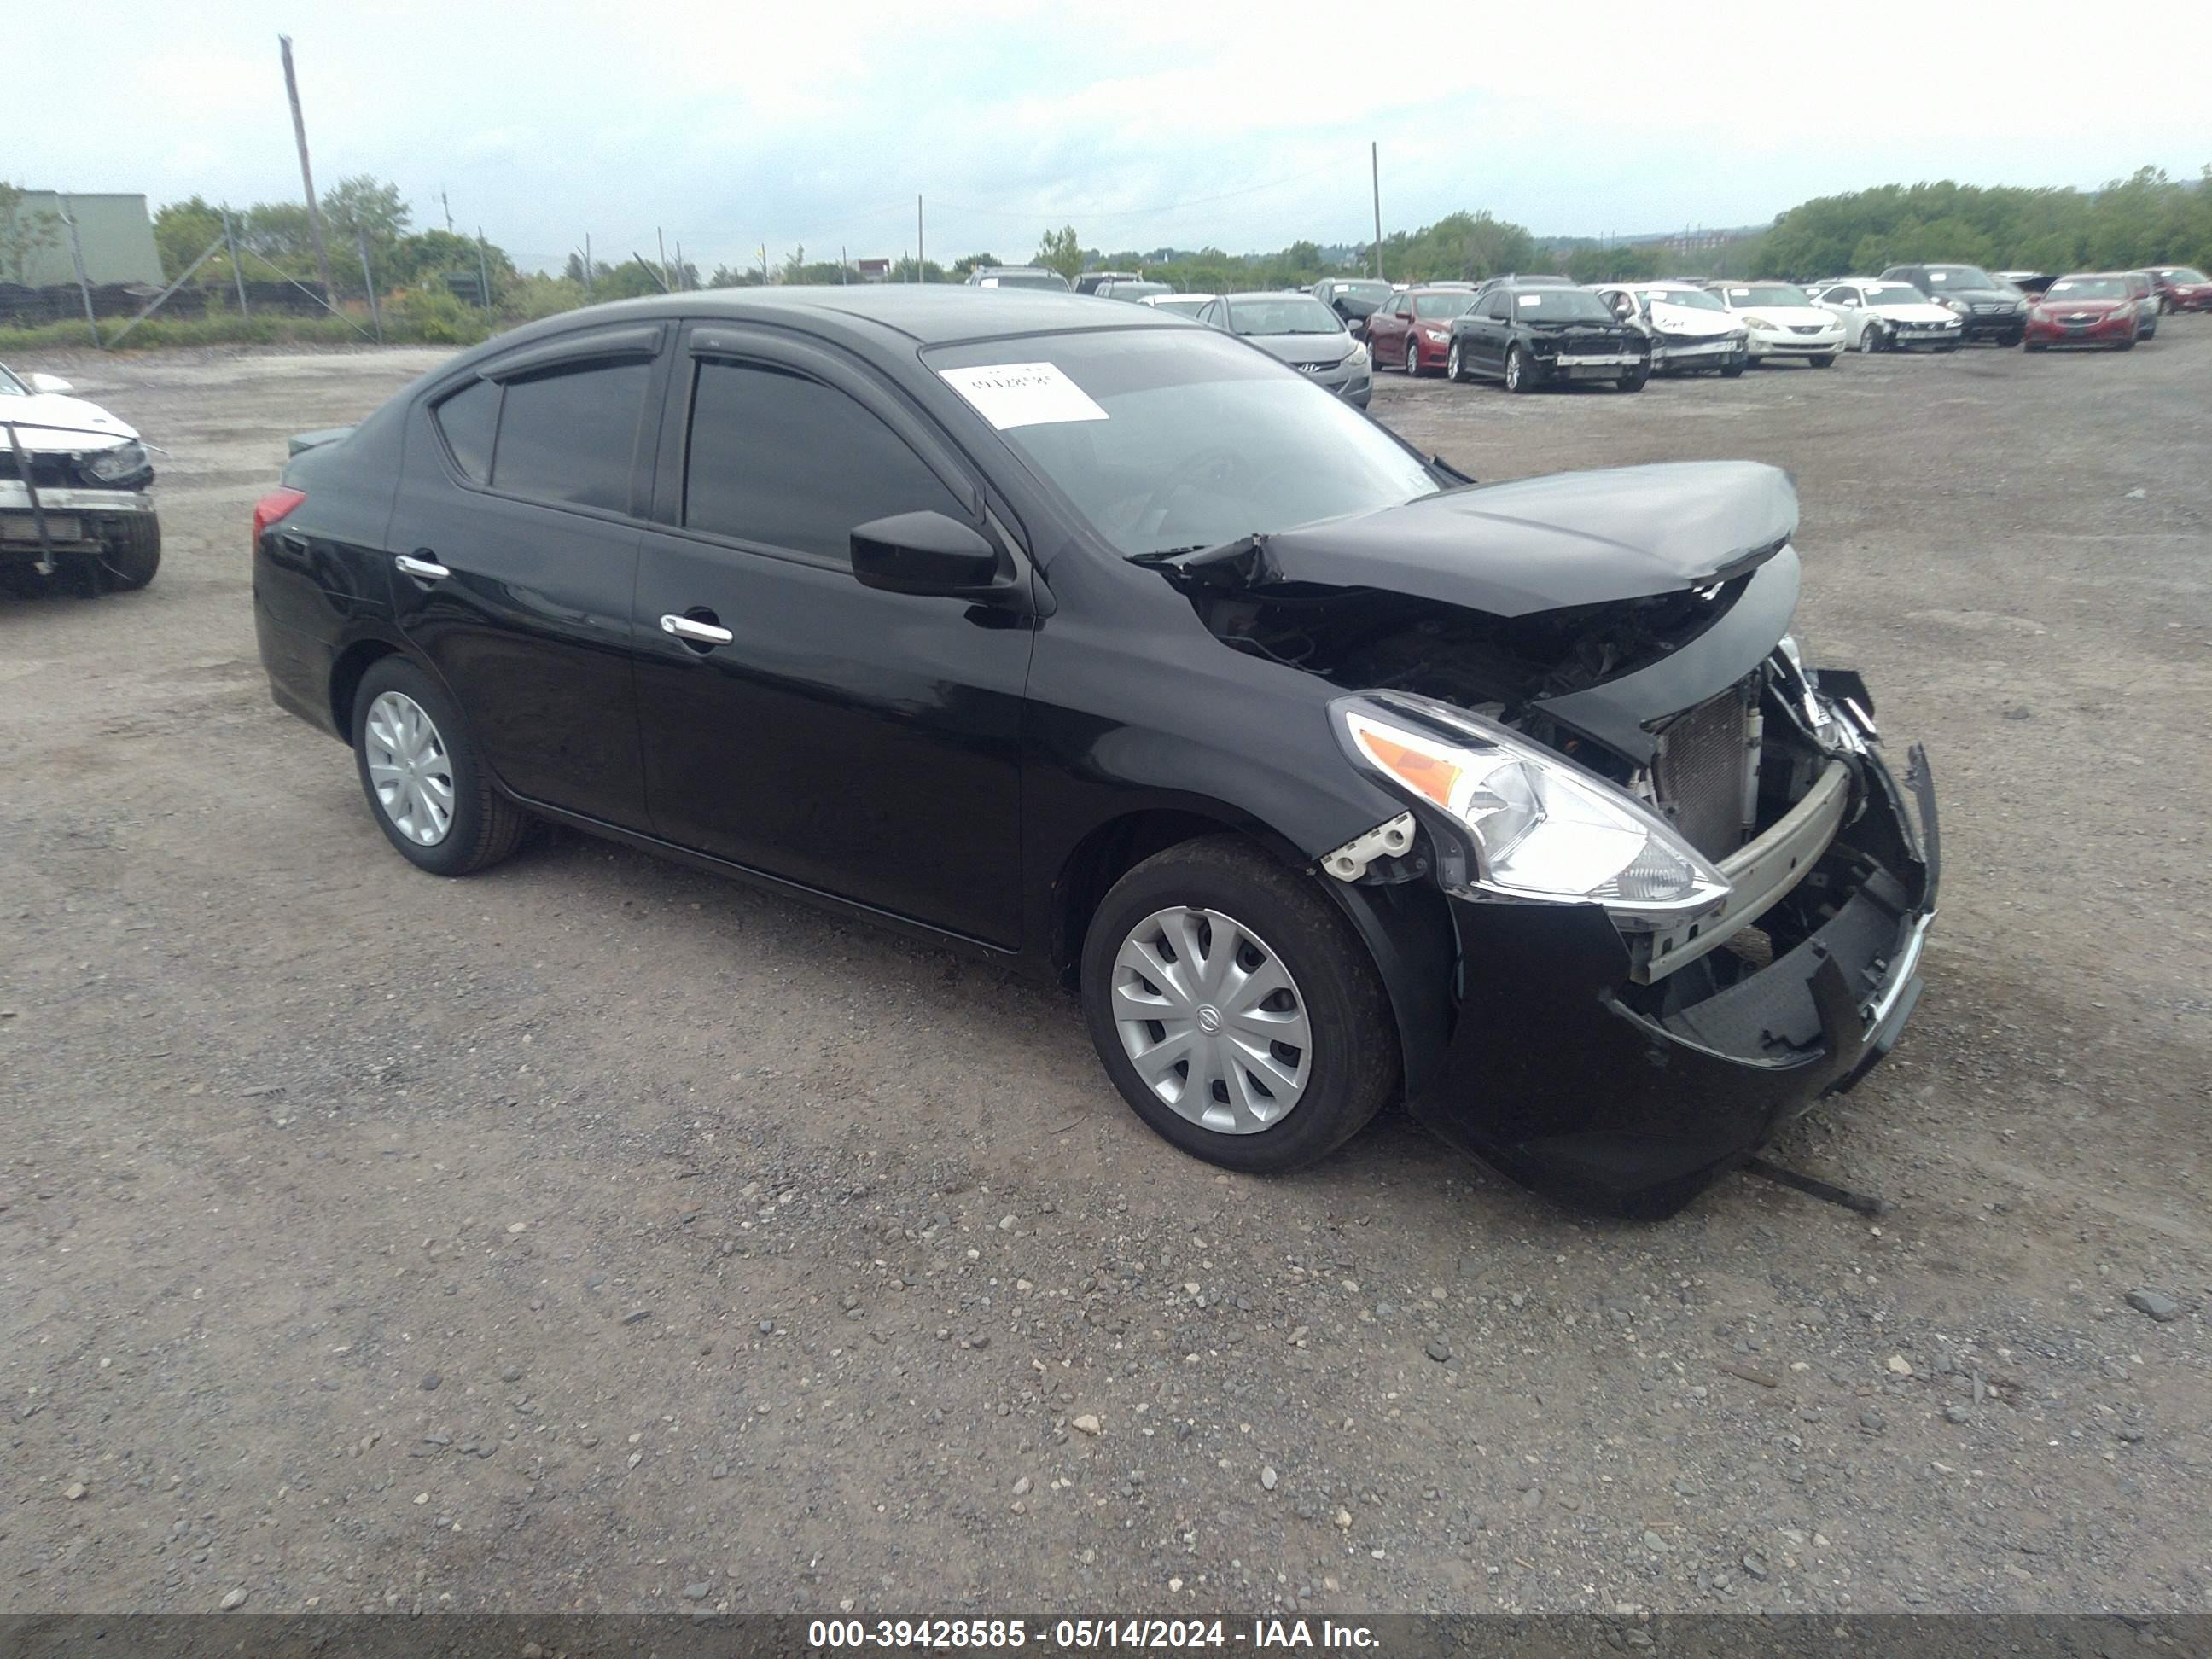
{"type": "Polygon", "coordinates": [[[394,504],[398,626],[509,790],[646,830],[630,597],[666,327],[531,347],[440,392],[394,504]]]}

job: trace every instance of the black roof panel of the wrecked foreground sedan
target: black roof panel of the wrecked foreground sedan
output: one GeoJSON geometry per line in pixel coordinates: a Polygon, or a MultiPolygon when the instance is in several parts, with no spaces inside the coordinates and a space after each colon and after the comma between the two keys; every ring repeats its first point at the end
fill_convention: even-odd
{"type": "MultiPolygon", "coordinates": [[[[546,321],[575,325],[580,321],[617,323],[668,316],[874,323],[922,345],[984,341],[1000,334],[1051,334],[1055,330],[1161,327],[1159,314],[1144,305],[1099,305],[1091,294],[1044,288],[971,288],[967,283],[708,288],[586,305],[546,321]]],[[[533,338],[553,332],[544,325],[529,330],[533,338]]]]}

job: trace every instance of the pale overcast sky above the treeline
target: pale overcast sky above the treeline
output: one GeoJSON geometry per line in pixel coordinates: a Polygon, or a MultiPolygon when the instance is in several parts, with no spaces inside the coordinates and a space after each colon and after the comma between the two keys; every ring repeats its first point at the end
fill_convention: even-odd
{"type": "Polygon", "coordinates": [[[1736,226],[1889,179],[2212,161],[2205,4],[219,0],[95,46],[11,31],[0,177],[299,199],[279,29],[321,184],[394,179],[418,228],[442,188],[526,270],[586,230],[622,259],[659,228],[701,270],[898,257],[916,192],[947,261],[1060,223],[1104,250],[1363,241],[1369,139],[1385,230],[1736,226]]]}

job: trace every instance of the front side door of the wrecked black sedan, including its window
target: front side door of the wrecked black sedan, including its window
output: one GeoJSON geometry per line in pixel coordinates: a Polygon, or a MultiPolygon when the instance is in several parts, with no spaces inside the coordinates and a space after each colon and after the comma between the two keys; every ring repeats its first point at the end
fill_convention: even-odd
{"type": "Polygon", "coordinates": [[[989,533],[942,438],[869,372],[765,330],[692,327],[637,573],[653,823],[1013,947],[1031,615],[863,588],[852,529],[911,511],[989,533]]]}

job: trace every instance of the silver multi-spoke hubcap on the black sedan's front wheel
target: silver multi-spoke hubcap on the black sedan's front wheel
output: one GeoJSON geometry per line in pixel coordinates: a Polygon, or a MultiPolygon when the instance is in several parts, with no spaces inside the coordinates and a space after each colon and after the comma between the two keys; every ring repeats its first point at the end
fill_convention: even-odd
{"type": "Polygon", "coordinates": [[[1305,998],[1252,929],[1217,909],[1161,909],[1113,960],[1113,1020],[1144,1086],[1199,1128],[1259,1135],[1305,1095],[1305,998]]]}

